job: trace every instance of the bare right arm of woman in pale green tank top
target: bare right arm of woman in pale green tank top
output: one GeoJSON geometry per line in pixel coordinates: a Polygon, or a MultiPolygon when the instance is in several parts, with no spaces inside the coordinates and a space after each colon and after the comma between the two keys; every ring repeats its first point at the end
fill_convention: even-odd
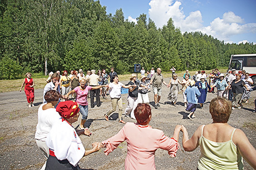
{"type": "Polygon", "coordinates": [[[234,143],[237,143],[238,150],[245,161],[247,161],[250,166],[256,169],[256,150],[249,142],[248,138],[242,130],[235,130],[233,141],[234,143]]]}

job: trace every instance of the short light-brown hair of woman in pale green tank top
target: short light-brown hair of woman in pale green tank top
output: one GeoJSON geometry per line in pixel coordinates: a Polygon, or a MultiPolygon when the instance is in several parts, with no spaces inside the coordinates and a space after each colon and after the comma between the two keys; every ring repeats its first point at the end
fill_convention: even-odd
{"type": "Polygon", "coordinates": [[[232,103],[223,97],[216,97],[211,100],[209,111],[214,123],[227,123],[232,112],[232,103]]]}

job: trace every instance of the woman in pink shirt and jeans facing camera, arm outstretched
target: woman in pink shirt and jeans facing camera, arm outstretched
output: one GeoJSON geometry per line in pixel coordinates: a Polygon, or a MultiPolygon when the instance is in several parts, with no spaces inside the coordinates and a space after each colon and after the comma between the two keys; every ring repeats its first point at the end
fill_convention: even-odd
{"type": "MultiPolygon", "coordinates": [[[[76,102],[79,105],[80,112],[82,114],[82,119],[80,123],[80,128],[85,129],[83,126],[87,120],[88,117],[88,101],[87,101],[87,95],[89,90],[95,90],[100,89],[101,87],[107,87],[107,85],[104,86],[87,86],[85,78],[80,79],[80,86],[77,86],[72,91],[68,92],[66,94],[66,98],[68,98],[69,95],[74,94],[76,92],[76,102]]],[[[86,127],[88,129],[88,127],[86,127]]]]}

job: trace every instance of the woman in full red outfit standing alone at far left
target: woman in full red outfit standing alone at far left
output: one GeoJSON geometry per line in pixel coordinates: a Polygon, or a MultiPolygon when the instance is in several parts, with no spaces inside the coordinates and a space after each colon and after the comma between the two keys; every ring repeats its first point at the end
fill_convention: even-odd
{"type": "Polygon", "coordinates": [[[26,73],[25,75],[27,78],[24,78],[24,81],[21,85],[21,89],[19,91],[22,90],[22,87],[25,85],[24,91],[25,94],[27,96],[27,101],[28,101],[28,107],[33,107],[33,101],[35,99],[35,95],[34,95],[34,86],[35,86],[35,82],[34,80],[31,78],[31,73],[26,73]]]}

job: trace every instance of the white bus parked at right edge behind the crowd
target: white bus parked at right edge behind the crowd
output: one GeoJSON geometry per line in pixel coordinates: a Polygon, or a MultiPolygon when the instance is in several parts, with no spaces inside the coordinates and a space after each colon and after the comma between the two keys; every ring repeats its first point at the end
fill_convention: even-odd
{"type": "Polygon", "coordinates": [[[245,70],[253,79],[253,84],[256,85],[256,54],[231,55],[229,70],[232,69],[237,70],[237,73],[245,70]]]}

